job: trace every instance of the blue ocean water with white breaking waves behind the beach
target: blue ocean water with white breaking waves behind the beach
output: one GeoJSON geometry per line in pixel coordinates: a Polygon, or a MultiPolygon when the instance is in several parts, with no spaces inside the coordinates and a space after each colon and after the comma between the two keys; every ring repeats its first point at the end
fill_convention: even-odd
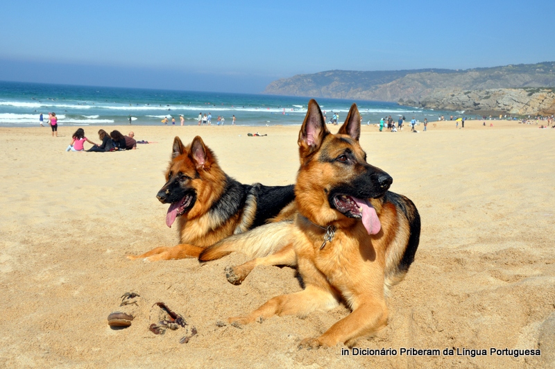
{"type": "MultiPolygon", "coordinates": [[[[60,126],[115,126],[162,125],[162,119],[171,118],[180,124],[194,125],[198,113],[212,114],[212,125],[218,116],[230,125],[232,116],[240,126],[300,125],[307,112],[309,98],[272,96],[262,94],[228,94],[219,92],[190,92],[163,89],[131,89],[74,85],[47,85],[0,81],[0,126],[39,126],[39,114],[48,120],[49,112],[56,112],[60,126]]],[[[433,111],[411,108],[379,101],[353,101],[317,98],[318,104],[330,120],[333,112],[344,121],[352,103],[357,103],[363,123],[378,123],[391,115],[398,120],[415,117],[419,121],[437,120],[439,115],[461,112],[433,111]]]]}

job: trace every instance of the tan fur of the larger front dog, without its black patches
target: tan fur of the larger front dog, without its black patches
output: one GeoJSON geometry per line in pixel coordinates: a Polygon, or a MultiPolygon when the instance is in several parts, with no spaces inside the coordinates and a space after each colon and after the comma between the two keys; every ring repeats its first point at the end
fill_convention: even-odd
{"type": "MultiPolygon", "coordinates": [[[[278,254],[227,270],[228,280],[234,283],[234,280],[244,280],[257,265],[296,263],[306,288],[272,298],[247,316],[230,318],[230,322],[253,323],[273,315],[305,316],[311,311],[332,309],[343,300],[352,313],[318,338],[305,339],[301,347],[350,345],[386,325],[385,292],[402,280],[406,272],[400,264],[409,242],[409,221],[395,204],[373,198],[370,203],[382,228],[377,234],[368,235],[359,219],[332,209],[327,199],[334,188],[348,185],[368,169],[366,154],[358,143],[359,124],[359,112],[353,104],[338,134],[332,135],[325,127],[316,101],[309,102],[307,118],[299,133],[301,165],[295,188],[294,221],[281,226],[273,223],[257,230],[257,239],[267,242],[274,240],[273,230],[282,227],[286,234],[279,243],[287,246],[278,254]],[[352,165],[342,166],[330,160],[330,157],[340,157],[347,149],[355,157],[352,165]],[[328,226],[335,227],[334,237],[323,244],[328,226]]],[[[418,233],[419,224],[418,218],[418,233]]],[[[245,239],[238,237],[229,241],[242,244],[245,239]]]]}

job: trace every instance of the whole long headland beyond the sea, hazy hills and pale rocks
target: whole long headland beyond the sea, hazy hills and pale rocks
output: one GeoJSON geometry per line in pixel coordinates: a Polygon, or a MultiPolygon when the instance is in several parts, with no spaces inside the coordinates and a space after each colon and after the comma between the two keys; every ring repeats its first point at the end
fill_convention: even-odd
{"type": "Polygon", "coordinates": [[[555,87],[555,62],[466,70],[323,71],[276,80],[263,93],[394,101],[445,110],[550,111],[552,91],[533,87],[555,87]]]}

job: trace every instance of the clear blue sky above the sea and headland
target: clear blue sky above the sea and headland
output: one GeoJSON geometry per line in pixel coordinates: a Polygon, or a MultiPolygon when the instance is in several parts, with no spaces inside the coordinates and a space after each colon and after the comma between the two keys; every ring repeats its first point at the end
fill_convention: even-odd
{"type": "Polygon", "coordinates": [[[555,61],[555,1],[10,1],[0,80],[261,92],[330,69],[555,61]]]}

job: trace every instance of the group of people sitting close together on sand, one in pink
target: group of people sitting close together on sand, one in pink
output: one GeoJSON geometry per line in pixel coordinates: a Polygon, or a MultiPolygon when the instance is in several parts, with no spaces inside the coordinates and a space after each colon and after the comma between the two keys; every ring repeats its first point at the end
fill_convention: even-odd
{"type": "MultiPolygon", "coordinates": [[[[88,153],[135,150],[135,148],[137,148],[137,141],[133,137],[135,137],[134,132],[129,132],[127,136],[124,136],[119,130],[112,130],[112,132],[108,134],[108,132],[101,129],[99,130],[99,139],[102,143],[96,144],[85,137],[85,130],[83,130],[83,128],[78,128],[71,136],[71,144],[67,146],[65,151],[83,152],[85,151],[85,142],[92,144],[92,147],[87,150],[88,153]]],[[[148,144],[148,141],[140,141],[139,143],[148,144]]]]}

